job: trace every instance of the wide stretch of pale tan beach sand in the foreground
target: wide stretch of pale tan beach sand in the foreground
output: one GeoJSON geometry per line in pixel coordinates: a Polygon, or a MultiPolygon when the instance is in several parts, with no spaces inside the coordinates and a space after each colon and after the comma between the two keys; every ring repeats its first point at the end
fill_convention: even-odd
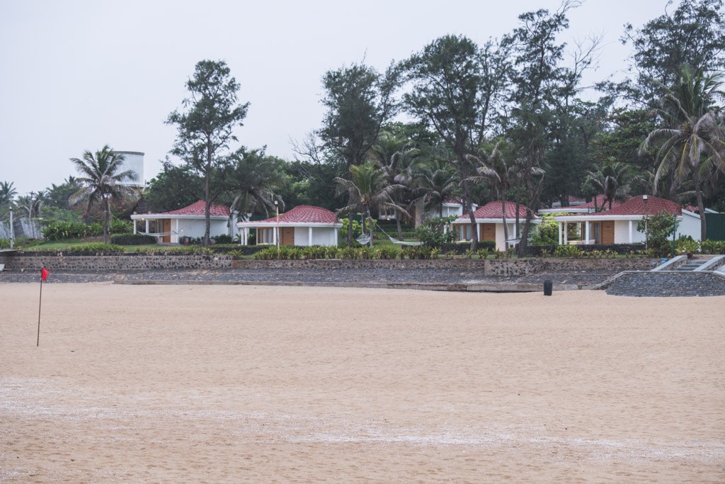
{"type": "Polygon", "coordinates": [[[724,482],[725,298],[0,285],[0,480],[724,482]]]}

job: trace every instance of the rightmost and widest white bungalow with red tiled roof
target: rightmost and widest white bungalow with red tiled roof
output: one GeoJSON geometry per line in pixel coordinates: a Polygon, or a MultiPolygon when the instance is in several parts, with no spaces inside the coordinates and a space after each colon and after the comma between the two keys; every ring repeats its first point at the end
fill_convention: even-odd
{"type": "Polygon", "coordinates": [[[689,235],[700,240],[700,216],[697,213],[652,195],[632,197],[604,212],[555,216],[554,220],[559,223],[560,245],[637,244],[645,242],[645,234],[637,231],[637,222],[662,211],[677,217],[676,237],[689,235]],[[579,225],[580,240],[568,239],[570,224],[579,225]]]}

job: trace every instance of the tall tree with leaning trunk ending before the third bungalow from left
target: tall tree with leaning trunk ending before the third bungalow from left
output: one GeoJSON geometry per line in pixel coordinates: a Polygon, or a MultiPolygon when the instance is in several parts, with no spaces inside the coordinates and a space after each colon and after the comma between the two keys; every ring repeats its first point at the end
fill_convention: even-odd
{"type": "MultiPolygon", "coordinates": [[[[492,130],[507,82],[508,63],[498,46],[489,42],[479,49],[463,36],[444,36],[402,63],[411,89],[405,104],[411,115],[436,131],[454,158],[461,183],[463,210],[473,215],[475,163],[468,157],[492,130]]],[[[471,248],[478,234],[473,231],[471,248]]]]}

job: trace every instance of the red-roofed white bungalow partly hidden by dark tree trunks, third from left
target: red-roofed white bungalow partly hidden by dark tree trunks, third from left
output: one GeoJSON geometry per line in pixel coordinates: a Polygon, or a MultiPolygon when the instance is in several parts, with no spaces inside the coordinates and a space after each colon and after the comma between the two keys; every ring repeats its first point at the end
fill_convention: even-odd
{"type": "MultiPolygon", "coordinates": [[[[479,207],[473,212],[476,218],[476,230],[478,230],[479,240],[494,240],[498,250],[505,250],[506,238],[503,230],[503,213],[502,202],[488,202],[486,205],[479,207]]],[[[518,206],[518,218],[520,223],[526,220],[526,212],[530,209],[524,205],[518,206]]],[[[539,223],[539,218],[534,216],[534,223],[539,223]]],[[[516,204],[514,202],[506,202],[506,225],[508,226],[508,244],[509,246],[518,243],[515,239],[516,230],[516,204]]],[[[458,240],[471,240],[473,232],[471,231],[471,218],[463,214],[453,221],[453,230],[457,234],[458,240]]]]}

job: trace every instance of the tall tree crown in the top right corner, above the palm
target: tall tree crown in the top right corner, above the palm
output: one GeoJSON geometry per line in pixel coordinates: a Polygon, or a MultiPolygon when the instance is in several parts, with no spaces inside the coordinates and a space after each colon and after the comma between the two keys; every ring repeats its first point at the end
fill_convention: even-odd
{"type": "MultiPolygon", "coordinates": [[[[669,0],[666,7],[674,1],[669,0]]],[[[656,107],[658,86],[671,86],[682,65],[695,72],[725,67],[725,15],[722,0],[682,0],[674,12],[665,12],[636,29],[625,25],[623,44],[634,47],[630,69],[634,79],[621,85],[634,104],[656,107]]]]}

